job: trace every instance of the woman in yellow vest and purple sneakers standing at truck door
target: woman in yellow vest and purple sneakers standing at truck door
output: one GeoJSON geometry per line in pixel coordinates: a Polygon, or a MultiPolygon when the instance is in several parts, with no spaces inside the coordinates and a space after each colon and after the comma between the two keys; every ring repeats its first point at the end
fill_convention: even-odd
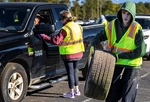
{"type": "Polygon", "coordinates": [[[75,98],[75,95],[81,94],[78,88],[77,67],[84,52],[83,30],[79,24],[74,22],[75,19],[69,11],[61,11],[60,20],[63,27],[59,33],[53,37],[41,35],[45,41],[59,45],[59,53],[68,73],[69,92],[63,94],[65,98],[75,98]]]}

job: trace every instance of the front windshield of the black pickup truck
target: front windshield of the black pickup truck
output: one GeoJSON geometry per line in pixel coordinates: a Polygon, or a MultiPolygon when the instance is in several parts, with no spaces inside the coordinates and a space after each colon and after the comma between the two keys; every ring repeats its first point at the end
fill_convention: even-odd
{"type": "Polygon", "coordinates": [[[0,7],[0,31],[19,31],[26,24],[29,8],[0,7]]]}

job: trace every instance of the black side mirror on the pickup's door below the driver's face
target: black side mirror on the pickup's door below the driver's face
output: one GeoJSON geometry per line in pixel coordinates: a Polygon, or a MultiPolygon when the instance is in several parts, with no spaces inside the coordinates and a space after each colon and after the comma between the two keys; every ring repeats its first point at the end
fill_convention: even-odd
{"type": "Polygon", "coordinates": [[[51,34],[55,32],[55,26],[52,24],[39,24],[33,29],[34,34],[51,34]]]}

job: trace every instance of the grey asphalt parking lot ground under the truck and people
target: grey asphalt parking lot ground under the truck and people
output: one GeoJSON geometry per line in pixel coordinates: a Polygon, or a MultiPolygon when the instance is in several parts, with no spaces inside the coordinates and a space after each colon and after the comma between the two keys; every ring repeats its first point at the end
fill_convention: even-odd
{"type": "MultiPolygon", "coordinates": [[[[144,61],[140,77],[139,77],[139,90],[136,98],[136,102],[150,102],[150,61],[144,61]]],[[[84,83],[81,73],[80,85],[81,96],[75,97],[75,99],[63,98],[62,94],[68,91],[67,81],[61,81],[53,84],[42,90],[29,90],[26,98],[23,102],[105,102],[103,100],[91,99],[84,96],[84,83]]]]}

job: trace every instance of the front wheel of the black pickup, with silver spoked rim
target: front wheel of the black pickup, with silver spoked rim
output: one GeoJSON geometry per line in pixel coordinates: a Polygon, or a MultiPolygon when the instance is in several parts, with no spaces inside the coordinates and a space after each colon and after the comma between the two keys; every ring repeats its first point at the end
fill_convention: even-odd
{"type": "Polygon", "coordinates": [[[26,96],[28,80],[23,66],[8,63],[0,79],[0,95],[4,102],[21,102],[26,96]]]}

